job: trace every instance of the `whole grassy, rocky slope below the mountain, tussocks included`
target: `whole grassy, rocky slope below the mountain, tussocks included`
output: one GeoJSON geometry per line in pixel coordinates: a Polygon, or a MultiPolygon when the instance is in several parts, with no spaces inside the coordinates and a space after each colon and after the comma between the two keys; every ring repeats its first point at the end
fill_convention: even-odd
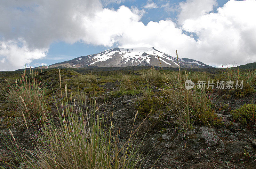
{"type": "Polygon", "coordinates": [[[26,69],[0,76],[4,168],[256,167],[255,71],[26,69]],[[187,90],[186,80],[195,87],[187,90]],[[198,85],[230,80],[243,88],[198,85]]]}

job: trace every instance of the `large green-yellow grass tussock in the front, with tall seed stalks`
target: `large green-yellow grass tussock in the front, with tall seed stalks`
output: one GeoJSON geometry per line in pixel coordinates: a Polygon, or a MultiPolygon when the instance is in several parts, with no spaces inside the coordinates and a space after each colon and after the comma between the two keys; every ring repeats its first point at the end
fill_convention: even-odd
{"type": "Polygon", "coordinates": [[[35,151],[22,149],[15,140],[16,160],[26,168],[140,168],[143,158],[139,154],[141,142],[136,140],[137,129],[132,126],[128,140],[119,142],[120,129],[114,127],[112,117],[100,112],[95,99],[89,112],[86,102],[73,103],[66,92],[61,108],[54,97],[57,123],[49,119],[44,125],[36,138],[35,151]]]}

